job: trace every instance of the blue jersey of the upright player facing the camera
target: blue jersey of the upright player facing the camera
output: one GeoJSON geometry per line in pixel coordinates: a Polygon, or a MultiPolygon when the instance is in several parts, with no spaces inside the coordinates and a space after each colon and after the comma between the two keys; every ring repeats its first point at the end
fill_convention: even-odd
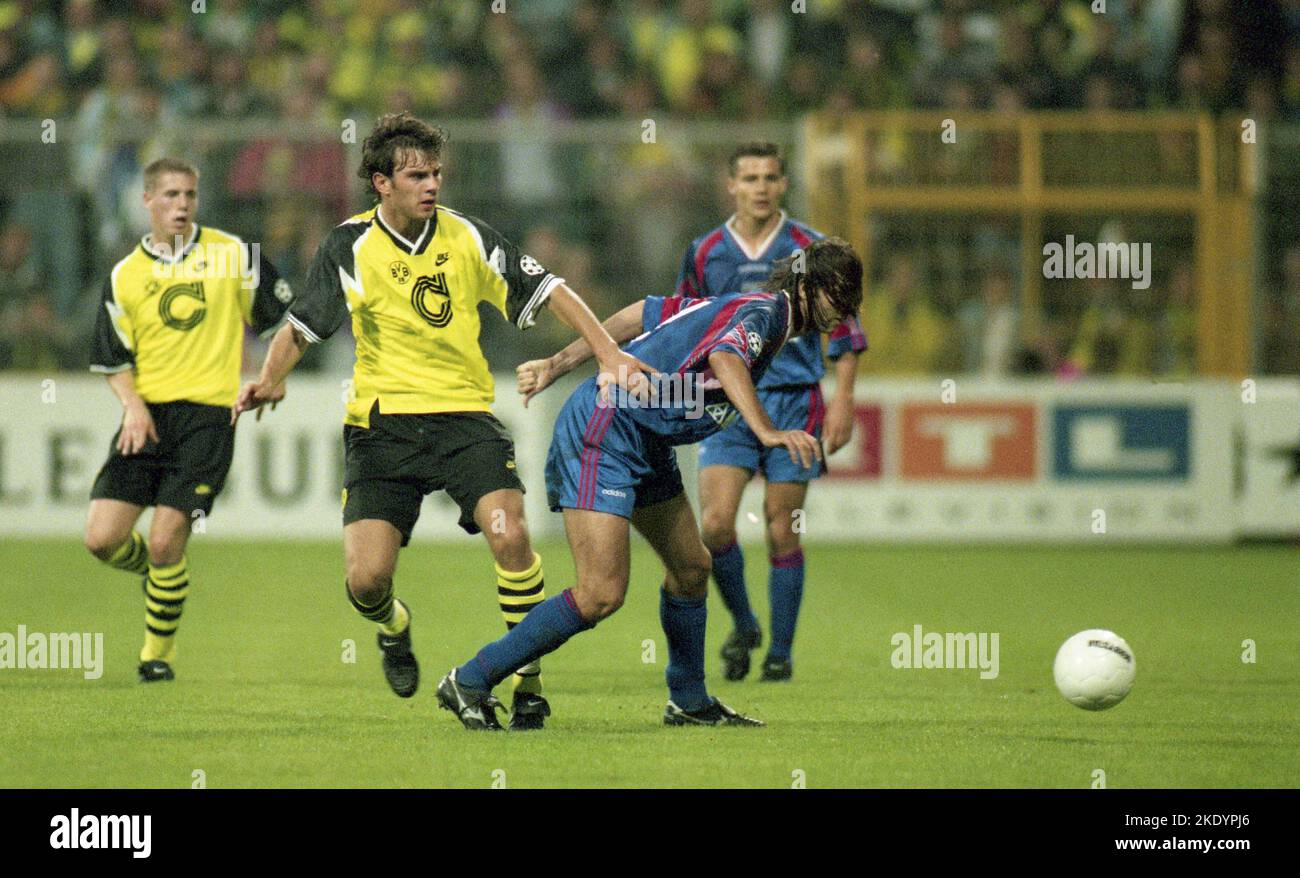
{"type": "MultiPolygon", "coordinates": [[[[746,252],[740,238],[732,232],[732,217],[708,234],[697,238],[686,248],[677,276],[677,295],[707,298],[729,293],[753,293],[764,289],[777,259],[807,247],[823,238],[820,232],[789,219],[781,211],[776,230],[757,254],[746,252]]],[[[849,351],[864,351],[867,337],[857,317],[849,317],[831,332],[827,353],[837,358],[849,351]]],[[[806,386],[816,384],[826,375],[822,359],[822,338],[806,333],[786,345],[757,384],[760,389],[806,386]]]]}

